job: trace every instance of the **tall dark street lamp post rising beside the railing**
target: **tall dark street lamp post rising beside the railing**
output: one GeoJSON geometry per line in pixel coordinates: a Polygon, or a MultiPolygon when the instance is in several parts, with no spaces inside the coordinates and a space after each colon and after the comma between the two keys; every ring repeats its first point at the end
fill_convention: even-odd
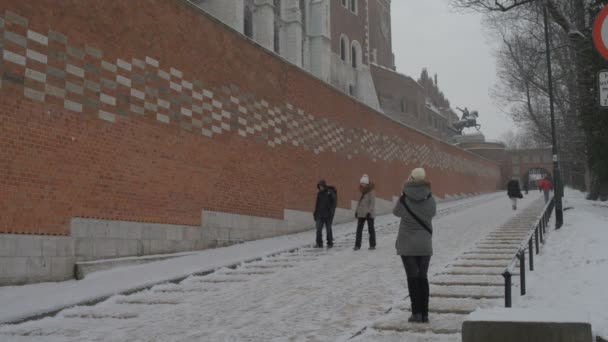
{"type": "Polygon", "coordinates": [[[553,189],[555,196],[555,229],[560,229],[564,224],[564,211],[562,209],[562,184],[559,170],[559,158],[557,154],[557,137],[555,133],[555,112],[553,109],[553,77],[551,73],[551,49],[549,47],[549,20],[547,15],[547,4],[543,4],[543,15],[545,21],[545,45],[547,55],[547,78],[549,82],[549,108],[551,112],[551,139],[553,154],[553,189]]]}

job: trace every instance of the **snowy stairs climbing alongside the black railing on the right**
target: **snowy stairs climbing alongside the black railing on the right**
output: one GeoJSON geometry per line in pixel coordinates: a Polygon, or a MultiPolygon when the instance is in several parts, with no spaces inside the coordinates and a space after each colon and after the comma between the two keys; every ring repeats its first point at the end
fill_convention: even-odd
{"type": "Polygon", "coordinates": [[[404,341],[460,341],[462,322],[469,313],[477,308],[503,305],[502,273],[543,208],[544,203],[539,199],[430,277],[430,323],[408,322],[410,304],[406,299],[405,304],[391,308],[386,317],[372,324],[367,333],[398,334],[404,341]]]}

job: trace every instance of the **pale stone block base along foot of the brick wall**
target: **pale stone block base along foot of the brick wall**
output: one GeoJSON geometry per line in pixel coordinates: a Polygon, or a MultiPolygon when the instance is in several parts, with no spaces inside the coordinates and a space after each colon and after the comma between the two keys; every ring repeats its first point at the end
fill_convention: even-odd
{"type": "MultiPolygon", "coordinates": [[[[376,198],[376,213],[390,213],[396,200],[376,198]]],[[[350,209],[337,208],[334,224],[353,221],[356,207],[357,201],[352,201],[350,209]]],[[[76,262],[200,251],[298,233],[314,225],[311,212],[289,209],[282,220],[202,211],[201,226],[74,218],[69,237],[0,234],[0,286],[72,279],[76,262]]],[[[123,265],[116,261],[107,265],[123,265]]]]}

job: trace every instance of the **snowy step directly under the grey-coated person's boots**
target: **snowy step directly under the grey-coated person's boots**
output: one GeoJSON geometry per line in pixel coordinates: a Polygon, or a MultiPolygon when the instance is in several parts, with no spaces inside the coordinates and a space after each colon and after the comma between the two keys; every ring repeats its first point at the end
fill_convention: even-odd
{"type": "Polygon", "coordinates": [[[372,328],[381,331],[456,334],[460,332],[460,326],[462,325],[466,315],[429,315],[430,323],[428,324],[410,323],[407,321],[408,317],[408,314],[393,314],[390,317],[374,323],[372,328]]]}

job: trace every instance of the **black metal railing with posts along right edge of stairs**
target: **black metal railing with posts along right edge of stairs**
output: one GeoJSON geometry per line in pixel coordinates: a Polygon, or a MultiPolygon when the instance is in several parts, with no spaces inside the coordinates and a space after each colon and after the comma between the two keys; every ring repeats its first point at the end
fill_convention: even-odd
{"type": "Polygon", "coordinates": [[[526,249],[528,250],[530,271],[534,271],[534,254],[540,252],[540,244],[544,243],[545,235],[547,234],[547,226],[549,225],[549,219],[555,208],[555,197],[552,197],[549,203],[545,206],[543,213],[534,226],[534,229],[530,230],[528,236],[524,238],[519,249],[509,265],[505,268],[502,276],[505,278],[505,307],[511,307],[511,277],[517,262],[519,262],[519,282],[521,295],[526,294],[526,249]],[[536,247],[536,253],[534,253],[534,247],[536,247]]]}

